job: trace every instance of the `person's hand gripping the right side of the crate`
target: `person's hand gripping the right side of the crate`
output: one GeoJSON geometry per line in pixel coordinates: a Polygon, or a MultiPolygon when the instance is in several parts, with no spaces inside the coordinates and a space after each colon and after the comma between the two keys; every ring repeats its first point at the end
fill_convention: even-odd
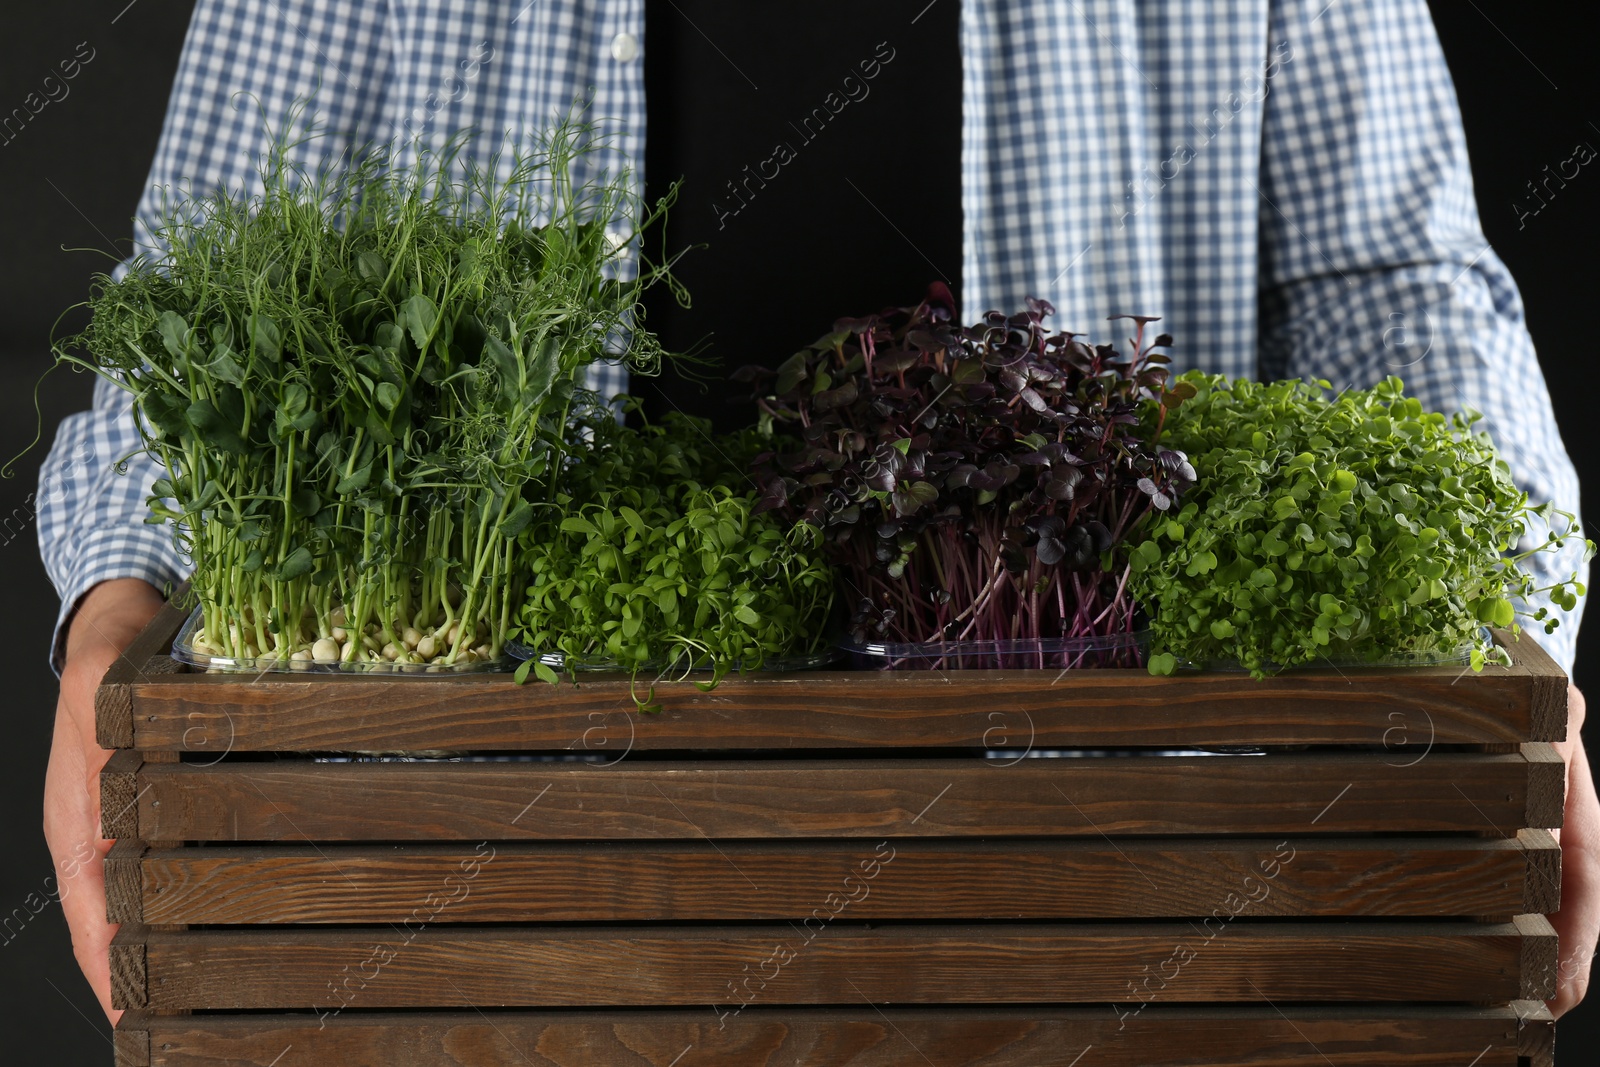
{"type": "Polygon", "coordinates": [[[1555,750],[1566,760],[1566,817],[1554,830],[1562,845],[1562,910],[1550,917],[1560,936],[1558,989],[1547,1001],[1557,1019],[1589,990],[1589,965],[1600,937],[1600,800],[1584,753],[1584,694],[1568,691],[1566,741],[1555,750]]]}

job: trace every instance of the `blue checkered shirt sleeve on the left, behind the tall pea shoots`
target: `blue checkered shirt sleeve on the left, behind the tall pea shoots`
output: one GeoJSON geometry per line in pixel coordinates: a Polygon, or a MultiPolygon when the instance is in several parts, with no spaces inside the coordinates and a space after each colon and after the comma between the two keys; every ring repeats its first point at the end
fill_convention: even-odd
{"type": "MultiPolygon", "coordinates": [[[[178,200],[219,189],[259,194],[256,168],[296,99],[314,98],[317,128],[341,144],[389,136],[378,128],[389,80],[387,8],[198,0],[134,218],[134,256],[160,253],[154,226],[178,200]]],[[[315,163],[326,147],[322,138],[302,138],[291,158],[315,163]]],[[[112,277],[122,278],[130,262],[112,277]]],[[[144,522],[160,464],[141,446],[131,398],[98,381],[93,408],[61,422],[40,470],[38,545],[61,595],[51,641],[58,672],[66,624],[94,584],[142,577],[163,587],[189,571],[171,528],[144,522]]]]}

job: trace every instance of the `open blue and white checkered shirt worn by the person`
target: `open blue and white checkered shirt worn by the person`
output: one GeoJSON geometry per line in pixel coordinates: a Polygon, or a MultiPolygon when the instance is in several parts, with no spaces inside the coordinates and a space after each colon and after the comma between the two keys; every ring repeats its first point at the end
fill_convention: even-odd
{"type": "MultiPolygon", "coordinates": [[[[923,6],[906,5],[907,24],[923,6]]],[[[462,126],[486,157],[592,91],[616,131],[594,165],[642,160],[643,40],[643,0],[198,0],[136,251],[162,187],[259,190],[262,115],[314,91],[328,131],[392,142],[402,163],[411,138],[462,126]]],[[[1482,411],[1518,483],[1578,512],[1424,0],[962,0],[960,48],[968,320],[1042,296],[1094,341],[1114,339],[1107,314],[1162,315],[1179,366],[1357,387],[1400,374],[1429,408],[1482,411]]],[[[312,141],[302,162],[334,150],[312,141]]],[[[104,382],[58,430],[38,530],[62,619],[94,582],[186,569],[142,522],[155,464],[118,467],[138,445],[104,382]]],[[[1550,579],[1582,561],[1538,566],[1550,579]]],[[[1568,669],[1576,622],[1541,638],[1568,669]]]]}

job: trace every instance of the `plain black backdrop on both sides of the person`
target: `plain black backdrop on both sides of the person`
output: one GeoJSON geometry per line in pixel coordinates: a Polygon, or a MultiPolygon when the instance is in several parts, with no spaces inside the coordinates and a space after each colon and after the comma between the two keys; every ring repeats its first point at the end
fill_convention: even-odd
{"type": "MultiPolygon", "coordinates": [[[[34,438],[34,384],[50,365],[53,322],[85,296],[90,274],[110,262],[104,253],[123,254],[128,248],[128,219],[160,131],[189,6],[160,0],[77,0],[13,5],[6,13],[0,38],[0,115],[40,90],[61,61],[86,56],[90,50],[93,58],[80,59],[62,99],[51,101],[14,136],[11,131],[0,136],[5,141],[0,144],[0,453],[5,458],[34,438]]],[[[1592,301],[1600,272],[1592,245],[1600,238],[1600,170],[1584,166],[1565,187],[1541,186],[1542,206],[1528,190],[1528,182],[1546,179],[1546,166],[1554,171],[1571,158],[1579,142],[1600,149],[1600,98],[1587,35],[1536,5],[1507,0],[1435,3],[1434,14],[1466,114],[1485,230],[1522,285],[1557,418],[1587,499],[1600,499],[1600,451],[1589,421],[1594,416],[1584,414],[1595,395],[1592,301]]],[[[848,59],[858,59],[854,51],[848,59]]],[[[910,59],[902,53],[898,62],[910,59]]],[[[741,66],[757,78],[765,70],[758,50],[741,53],[741,66]]],[[[826,64],[819,67],[821,85],[835,72],[826,64]]],[[[843,77],[845,70],[837,74],[843,77]]],[[[893,74],[898,72],[891,66],[878,78],[883,91],[890,91],[893,74]]],[[[53,91],[59,96],[59,90],[53,91]]],[[[736,106],[731,98],[730,106],[736,106]]],[[[752,120],[757,117],[752,114],[752,120]]],[[[840,122],[848,117],[846,110],[840,122]]],[[[875,189],[867,194],[883,203],[875,189]]],[[[710,194],[699,192],[694,200],[706,195],[710,194]]],[[[840,198],[840,205],[846,203],[840,198]]],[[[848,210],[859,213],[862,226],[877,218],[866,208],[848,210]]],[[[816,238],[813,222],[798,211],[787,213],[787,226],[789,232],[779,234],[771,248],[816,238]]],[[[762,250],[750,250],[752,258],[758,254],[762,250]]],[[[842,256],[848,251],[842,250],[842,256]]],[[[918,262],[901,269],[918,283],[928,277],[918,262]]],[[[944,270],[958,270],[958,264],[941,266],[939,272],[944,270]]],[[[837,307],[837,298],[819,278],[805,291],[781,294],[784,307],[774,306],[773,314],[813,309],[805,314],[816,318],[861,310],[837,307]]],[[[894,293],[883,299],[906,298],[894,293]]],[[[64,326],[75,322],[69,315],[64,326]]],[[[739,362],[738,355],[728,362],[739,362]]],[[[62,414],[86,406],[88,386],[85,378],[72,374],[46,379],[37,395],[45,445],[62,414]]],[[[22,905],[50,875],[38,811],[54,702],[45,653],[56,600],[38,563],[29,501],[42,450],[43,445],[35,446],[16,464],[16,477],[0,482],[0,574],[10,605],[0,613],[0,648],[10,649],[5,710],[11,741],[0,757],[6,761],[0,774],[0,854],[5,856],[0,915],[22,905]]],[[[1576,672],[1578,681],[1587,681],[1590,689],[1600,686],[1597,653],[1600,624],[1586,630],[1576,672]]],[[[1600,729],[1590,729],[1589,742],[1600,744],[1600,729]]],[[[109,1037],[77,976],[59,909],[46,909],[14,936],[0,934],[5,937],[10,937],[0,944],[5,1059],[109,1064],[109,1037]]],[[[1600,995],[1562,1022],[1560,1062],[1595,1062],[1597,1021],[1600,995]]]]}

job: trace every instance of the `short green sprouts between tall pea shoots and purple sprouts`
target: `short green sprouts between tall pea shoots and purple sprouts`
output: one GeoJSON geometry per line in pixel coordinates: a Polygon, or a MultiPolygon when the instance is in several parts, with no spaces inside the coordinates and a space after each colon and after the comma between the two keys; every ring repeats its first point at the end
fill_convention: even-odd
{"type": "MultiPolygon", "coordinates": [[[[709,422],[672,413],[638,430],[594,419],[584,434],[560,507],[518,537],[531,574],[518,641],[568,669],[629,670],[635,686],[643,672],[710,669],[702,689],[822,651],[834,576],[814,528],[757,512],[754,430],[714,438],[709,422]]],[[[558,678],[538,659],[517,672],[530,675],[558,678]]],[[[659,709],[654,681],[635,704],[659,709]]]]}

